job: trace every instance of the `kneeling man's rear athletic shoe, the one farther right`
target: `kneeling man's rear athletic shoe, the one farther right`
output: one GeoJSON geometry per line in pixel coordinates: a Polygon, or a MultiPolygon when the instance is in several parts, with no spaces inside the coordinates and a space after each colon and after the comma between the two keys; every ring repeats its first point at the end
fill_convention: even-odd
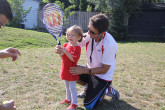
{"type": "Polygon", "coordinates": [[[120,98],[119,92],[112,85],[108,87],[108,93],[106,95],[112,97],[112,100],[119,100],[120,98]]]}

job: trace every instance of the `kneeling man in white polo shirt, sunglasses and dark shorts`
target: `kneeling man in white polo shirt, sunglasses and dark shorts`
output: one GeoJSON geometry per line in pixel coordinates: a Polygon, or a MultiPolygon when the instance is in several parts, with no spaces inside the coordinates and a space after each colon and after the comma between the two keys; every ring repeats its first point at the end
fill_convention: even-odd
{"type": "Polygon", "coordinates": [[[105,14],[90,18],[88,33],[78,44],[86,47],[87,67],[78,66],[70,69],[73,75],[80,76],[77,83],[86,85],[83,95],[84,106],[88,110],[96,107],[105,93],[113,99],[119,99],[119,93],[111,87],[118,46],[114,38],[106,32],[108,27],[109,20],[105,14]]]}

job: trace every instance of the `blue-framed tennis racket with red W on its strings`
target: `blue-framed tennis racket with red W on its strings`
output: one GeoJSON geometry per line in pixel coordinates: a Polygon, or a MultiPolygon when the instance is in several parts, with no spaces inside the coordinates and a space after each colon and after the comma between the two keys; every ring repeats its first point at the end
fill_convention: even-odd
{"type": "Polygon", "coordinates": [[[64,14],[62,9],[54,3],[48,3],[43,7],[42,20],[47,31],[61,45],[60,39],[64,28],[64,14]]]}

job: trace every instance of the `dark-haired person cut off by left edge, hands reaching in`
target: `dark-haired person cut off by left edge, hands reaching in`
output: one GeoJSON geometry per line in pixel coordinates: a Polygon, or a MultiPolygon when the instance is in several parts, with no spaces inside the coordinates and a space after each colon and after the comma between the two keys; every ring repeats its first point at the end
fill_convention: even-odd
{"type": "MultiPolygon", "coordinates": [[[[6,0],[0,0],[0,28],[3,28],[13,18],[10,4],[6,0]]],[[[17,60],[18,55],[21,55],[19,50],[15,48],[7,48],[0,51],[0,58],[11,57],[13,61],[17,60]]],[[[16,110],[14,101],[11,100],[4,105],[0,105],[0,110],[16,110]]]]}

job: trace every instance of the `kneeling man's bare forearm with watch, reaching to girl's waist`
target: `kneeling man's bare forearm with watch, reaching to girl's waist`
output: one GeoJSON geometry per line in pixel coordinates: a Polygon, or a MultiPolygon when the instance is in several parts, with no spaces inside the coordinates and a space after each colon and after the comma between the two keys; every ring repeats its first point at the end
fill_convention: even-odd
{"type": "Polygon", "coordinates": [[[70,73],[73,73],[73,75],[79,75],[79,74],[105,74],[110,69],[111,65],[105,65],[102,64],[101,67],[96,68],[84,68],[84,67],[71,67],[70,73]]]}

